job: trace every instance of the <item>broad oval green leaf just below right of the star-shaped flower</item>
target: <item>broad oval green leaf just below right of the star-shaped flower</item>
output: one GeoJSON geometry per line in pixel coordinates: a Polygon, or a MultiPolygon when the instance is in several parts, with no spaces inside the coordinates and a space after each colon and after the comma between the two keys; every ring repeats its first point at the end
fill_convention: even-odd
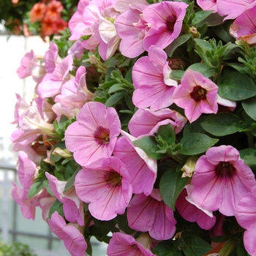
{"type": "Polygon", "coordinates": [[[233,113],[217,113],[201,123],[206,132],[215,136],[225,136],[238,132],[241,119],[233,113]]]}

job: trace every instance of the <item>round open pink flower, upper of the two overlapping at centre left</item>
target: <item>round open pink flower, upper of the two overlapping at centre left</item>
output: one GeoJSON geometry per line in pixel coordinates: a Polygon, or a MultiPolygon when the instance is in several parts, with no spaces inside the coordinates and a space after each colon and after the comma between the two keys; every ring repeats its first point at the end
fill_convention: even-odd
{"type": "Polygon", "coordinates": [[[114,108],[100,102],[87,102],[78,121],[65,132],[65,143],[74,152],[75,161],[86,166],[101,157],[110,157],[120,134],[121,123],[114,108]]]}

